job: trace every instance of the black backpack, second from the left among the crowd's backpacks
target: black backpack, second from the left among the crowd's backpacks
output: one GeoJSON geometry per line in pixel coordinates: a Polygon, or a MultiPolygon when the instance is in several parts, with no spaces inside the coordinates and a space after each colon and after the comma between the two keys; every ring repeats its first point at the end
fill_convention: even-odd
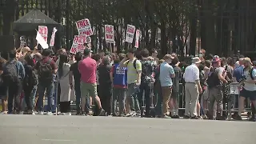
{"type": "Polygon", "coordinates": [[[25,68],[25,78],[23,79],[23,87],[24,88],[33,88],[38,84],[38,78],[34,73],[32,66],[26,66],[25,68]]]}

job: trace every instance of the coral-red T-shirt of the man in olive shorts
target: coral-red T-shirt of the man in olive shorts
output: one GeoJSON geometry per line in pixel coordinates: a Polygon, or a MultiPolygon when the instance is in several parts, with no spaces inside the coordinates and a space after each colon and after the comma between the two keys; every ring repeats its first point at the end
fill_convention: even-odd
{"type": "Polygon", "coordinates": [[[78,70],[81,74],[82,82],[96,84],[97,64],[93,58],[87,57],[80,61],[78,70]]]}

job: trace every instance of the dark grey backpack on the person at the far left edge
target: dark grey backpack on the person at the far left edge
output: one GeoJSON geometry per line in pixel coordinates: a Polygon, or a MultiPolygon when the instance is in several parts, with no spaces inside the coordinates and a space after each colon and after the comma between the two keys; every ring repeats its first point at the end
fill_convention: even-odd
{"type": "Polygon", "coordinates": [[[2,80],[5,82],[7,85],[10,82],[17,82],[18,80],[18,68],[16,66],[17,61],[9,61],[6,63],[3,69],[2,73],[2,80]]]}

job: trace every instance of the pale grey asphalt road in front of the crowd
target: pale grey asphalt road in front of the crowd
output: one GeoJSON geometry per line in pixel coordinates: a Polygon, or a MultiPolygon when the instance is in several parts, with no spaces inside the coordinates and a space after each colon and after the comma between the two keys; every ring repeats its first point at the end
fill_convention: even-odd
{"type": "Polygon", "coordinates": [[[0,144],[249,144],[256,122],[0,115],[0,144]]]}

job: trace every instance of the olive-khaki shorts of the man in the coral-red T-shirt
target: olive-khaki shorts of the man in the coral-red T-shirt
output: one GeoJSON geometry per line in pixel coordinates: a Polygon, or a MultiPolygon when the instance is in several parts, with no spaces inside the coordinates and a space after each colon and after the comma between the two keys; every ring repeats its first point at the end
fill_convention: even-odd
{"type": "Polygon", "coordinates": [[[97,84],[96,83],[80,83],[81,97],[96,97],[97,93],[97,84]]]}

